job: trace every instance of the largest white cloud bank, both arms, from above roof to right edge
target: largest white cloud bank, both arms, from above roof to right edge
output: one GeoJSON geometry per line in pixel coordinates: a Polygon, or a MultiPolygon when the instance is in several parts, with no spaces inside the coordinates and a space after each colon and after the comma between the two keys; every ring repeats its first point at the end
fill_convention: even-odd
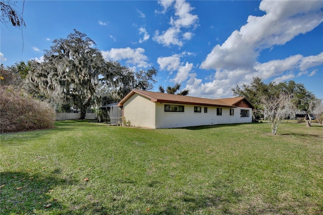
{"type": "Polygon", "coordinates": [[[202,83],[201,79],[190,79],[186,83],[190,95],[232,96],[230,88],[249,84],[252,77],[281,82],[306,75],[307,69],[323,64],[323,52],[316,56],[295,55],[282,60],[257,62],[261,50],[284,45],[322,23],[322,1],[262,1],[259,8],[266,14],[249,16],[240,30],[234,31],[223,44],[212,48],[200,68],[215,70],[214,80],[202,83]]]}

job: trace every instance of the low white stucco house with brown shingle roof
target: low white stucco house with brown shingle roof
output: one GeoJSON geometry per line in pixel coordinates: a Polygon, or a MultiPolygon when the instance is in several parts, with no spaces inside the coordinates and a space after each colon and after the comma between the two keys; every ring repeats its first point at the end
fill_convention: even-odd
{"type": "Polygon", "coordinates": [[[209,99],[132,90],[119,103],[131,126],[179,128],[251,123],[252,104],[245,97],[209,99]]]}

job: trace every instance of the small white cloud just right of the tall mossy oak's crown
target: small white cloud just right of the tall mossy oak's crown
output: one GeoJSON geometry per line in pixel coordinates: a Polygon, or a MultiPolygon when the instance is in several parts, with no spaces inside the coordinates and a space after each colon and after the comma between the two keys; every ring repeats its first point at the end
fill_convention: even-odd
{"type": "Polygon", "coordinates": [[[147,63],[147,56],[144,55],[145,49],[130,47],[126,48],[112,48],[107,51],[101,51],[105,60],[112,61],[126,61],[130,67],[147,68],[150,64],[147,63]]]}

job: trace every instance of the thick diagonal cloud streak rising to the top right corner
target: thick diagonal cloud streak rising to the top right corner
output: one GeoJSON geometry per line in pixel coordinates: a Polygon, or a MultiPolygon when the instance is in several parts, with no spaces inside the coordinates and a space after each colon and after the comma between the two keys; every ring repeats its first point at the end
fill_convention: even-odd
{"type": "Polygon", "coordinates": [[[321,1],[262,1],[262,17],[249,16],[247,24],[234,31],[222,44],[213,47],[202,69],[250,68],[259,52],[282,45],[295,36],[311,31],[323,20],[321,1]]]}

